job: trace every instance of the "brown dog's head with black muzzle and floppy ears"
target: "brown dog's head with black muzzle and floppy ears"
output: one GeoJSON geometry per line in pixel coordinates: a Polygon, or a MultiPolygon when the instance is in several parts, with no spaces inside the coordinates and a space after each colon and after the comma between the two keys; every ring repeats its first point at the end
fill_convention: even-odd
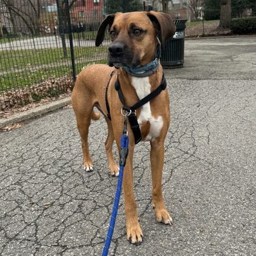
{"type": "Polygon", "coordinates": [[[137,67],[152,62],[159,43],[157,37],[163,45],[176,30],[172,17],[163,12],[117,12],[106,16],[100,24],[96,46],[104,40],[108,25],[112,41],[108,65],[115,67],[137,67]]]}

